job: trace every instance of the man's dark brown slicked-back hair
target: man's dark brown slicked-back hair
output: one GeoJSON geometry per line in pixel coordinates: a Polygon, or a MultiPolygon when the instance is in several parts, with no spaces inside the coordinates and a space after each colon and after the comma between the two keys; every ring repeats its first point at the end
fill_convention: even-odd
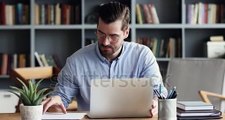
{"type": "Polygon", "coordinates": [[[107,24],[115,22],[116,20],[122,20],[121,30],[125,30],[130,22],[130,10],[126,5],[112,1],[100,5],[99,18],[107,24]]]}

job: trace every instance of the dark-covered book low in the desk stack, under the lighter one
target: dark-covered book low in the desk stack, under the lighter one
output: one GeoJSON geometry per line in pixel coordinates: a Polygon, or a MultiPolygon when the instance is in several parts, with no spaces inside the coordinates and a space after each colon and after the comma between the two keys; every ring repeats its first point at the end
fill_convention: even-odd
{"type": "Polygon", "coordinates": [[[221,111],[212,110],[182,110],[177,109],[177,116],[187,117],[187,116],[220,116],[221,111]]]}

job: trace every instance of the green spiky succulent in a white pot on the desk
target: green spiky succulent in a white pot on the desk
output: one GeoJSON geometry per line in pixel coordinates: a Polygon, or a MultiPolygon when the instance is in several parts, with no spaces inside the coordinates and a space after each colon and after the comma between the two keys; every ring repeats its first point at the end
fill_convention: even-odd
{"type": "Polygon", "coordinates": [[[18,96],[22,103],[19,106],[21,119],[41,120],[43,111],[41,102],[49,93],[47,92],[48,88],[38,88],[43,79],[38,82],[29,80],[28,84],[20,79],[18,81],[22,84],[22,87],[10,86],[10,92],[18,96]]]}

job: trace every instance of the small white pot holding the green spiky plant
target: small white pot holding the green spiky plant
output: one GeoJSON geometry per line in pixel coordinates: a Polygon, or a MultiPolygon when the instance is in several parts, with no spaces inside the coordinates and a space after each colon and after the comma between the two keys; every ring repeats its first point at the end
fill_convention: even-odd
{"type": "Polygon", "coordinates": [[[41,120],[43,105],[24,106],[20,105],[21,120],[41,120]]]}

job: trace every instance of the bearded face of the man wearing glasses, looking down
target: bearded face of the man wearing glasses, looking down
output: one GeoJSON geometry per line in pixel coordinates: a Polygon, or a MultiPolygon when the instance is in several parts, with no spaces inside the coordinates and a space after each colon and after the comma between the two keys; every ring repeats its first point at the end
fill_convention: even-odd
{"type": "Polygon", "coordinates": [[[128,37],[129,29],[121,30],[122,20],[106,24],[99,19],[97,38],[101,54],[107,59],[114,59],[120,53],[124,39],[128,37]]]}

